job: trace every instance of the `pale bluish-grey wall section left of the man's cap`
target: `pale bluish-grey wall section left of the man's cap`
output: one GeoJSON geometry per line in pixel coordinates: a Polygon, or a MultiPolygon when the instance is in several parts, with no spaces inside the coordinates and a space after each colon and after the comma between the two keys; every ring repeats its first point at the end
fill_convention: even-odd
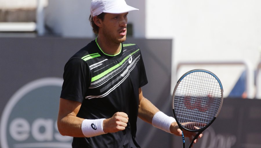
{"type": "Polygon", "coordinates": [[[93,37],[90,4],[86,0],[50,0],[46,8],[46,24],[63,37],[93,37]]]}

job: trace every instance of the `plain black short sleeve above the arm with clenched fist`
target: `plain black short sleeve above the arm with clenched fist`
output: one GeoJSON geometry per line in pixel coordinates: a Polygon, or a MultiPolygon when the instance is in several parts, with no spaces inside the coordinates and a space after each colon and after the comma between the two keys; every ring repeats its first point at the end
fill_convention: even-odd
{"type": "Polygon", "coordinates": [[[88,64],[81,58],[71,58],[64,66],[64,83],[61,98],[83,102],[90,86],[91,73],[88,64]]]}

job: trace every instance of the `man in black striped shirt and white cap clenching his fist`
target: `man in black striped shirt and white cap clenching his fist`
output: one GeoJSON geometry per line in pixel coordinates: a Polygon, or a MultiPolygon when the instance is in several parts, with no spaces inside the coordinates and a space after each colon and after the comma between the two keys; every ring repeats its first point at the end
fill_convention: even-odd
{"type": "MultiPolygon", "coordinates": [[[[137,116],[181,135],[175,119],[142,95],[148,83],[142,55],[138,46],[125,42],[131,10],[138,9],[124,0],[91,2],[90,21],[98,37],[65,65],[57,122],[62,135],[74,137],[74,148],[140,147],[137,116]]],[[[195,133],[184,135],[192,140],[195,133]]]]}

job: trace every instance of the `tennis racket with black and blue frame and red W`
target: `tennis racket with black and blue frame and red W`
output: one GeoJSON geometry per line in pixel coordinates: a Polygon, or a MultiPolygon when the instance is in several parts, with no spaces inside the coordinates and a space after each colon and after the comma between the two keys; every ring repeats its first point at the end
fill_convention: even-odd
{"type": "MultiPolygon", "coordinates": [[[[217,118],[223,102],[223,87],[210,71],[195,69],[182,75],[172,96],[172,110],[179,128],[198,132],[189,145],[217,118]],[[190,124],[184,124],[191,122],[190,124]]],[[[182,131],[183,148],[185,140],[182,131]]]]}

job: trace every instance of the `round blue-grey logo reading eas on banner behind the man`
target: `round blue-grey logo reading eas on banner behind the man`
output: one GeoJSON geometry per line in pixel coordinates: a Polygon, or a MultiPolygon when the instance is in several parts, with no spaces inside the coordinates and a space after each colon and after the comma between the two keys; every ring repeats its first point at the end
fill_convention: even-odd
{"type": "Polygon", "coordinates": [[[61,78],[41,78],[12,95],[1,116],[1,147],[71,147],[72,137],[62,136],[57,128],[62,83],[61,78]]]}

